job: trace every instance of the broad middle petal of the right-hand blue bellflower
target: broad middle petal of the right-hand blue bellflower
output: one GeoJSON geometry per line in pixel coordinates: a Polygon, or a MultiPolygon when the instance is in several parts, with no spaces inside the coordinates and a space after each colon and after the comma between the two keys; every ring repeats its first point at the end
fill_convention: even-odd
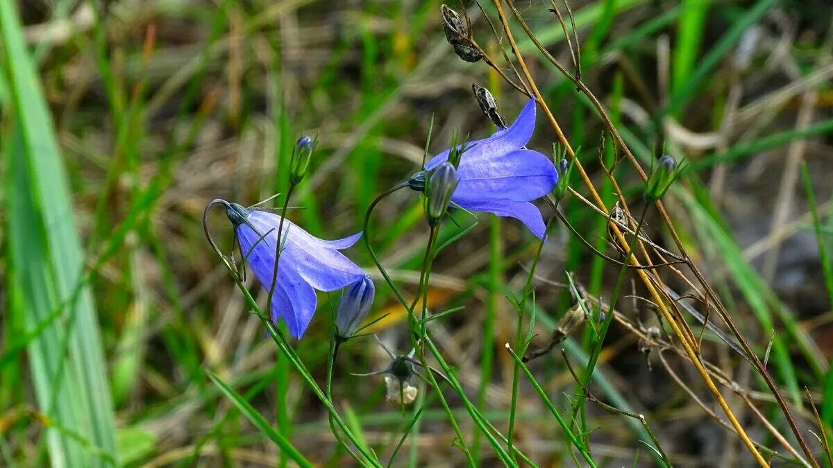
{"type": "Polygon", "coordinates": [[[530,202],[552,192],[558,182],[558,172],[550,158],[526,149],[484,158],[476,164],[461,162],[457,177],[460,183],[451,200],[458,203],[461,200],[530,202]]]}

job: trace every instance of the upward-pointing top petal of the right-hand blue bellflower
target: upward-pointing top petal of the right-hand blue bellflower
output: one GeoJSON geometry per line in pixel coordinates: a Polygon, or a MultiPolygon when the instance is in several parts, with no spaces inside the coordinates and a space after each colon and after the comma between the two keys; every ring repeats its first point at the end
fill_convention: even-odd
{"type": "MultiPolygon", "coordinates": [[[[529,102],[526,102],[526,106],[518,114],[518,117],[515,119],[515,122],[512,122],[511,126],[503,130],[498,130],[485,140],[468,142],[467,147],[469,149],[463,152],[460,165],[462,167],[463,162],[474,164],[483,158],[495,157],[520,149],[529,142],[534,130],[535,98],[530,97],[529,102]]],[[[442,162],[448,161],[449,152],[451,152],[451,148],[432,157],[431,161],[425,165],[426,170],[430,171],[442,162]]]]}

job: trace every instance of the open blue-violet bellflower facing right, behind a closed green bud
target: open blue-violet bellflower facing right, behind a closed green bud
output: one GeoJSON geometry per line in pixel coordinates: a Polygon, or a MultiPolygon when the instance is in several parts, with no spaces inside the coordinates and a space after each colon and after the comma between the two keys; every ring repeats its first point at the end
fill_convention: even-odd
{"type": "MultiPolygon", "coordinates": [[[[485,140],[466,143],[456,173],[460,182],[451,202],[472,212],[514,217],[543,238],[544,218],[531,201],[556,187],[558,172],[549,157],[526,149],[534,129],[535,99],[530,98],[510,127],[485,140]]],[[[431,158],[426,171],[448,161],[450,152],[447,149],[431,158]]]]}

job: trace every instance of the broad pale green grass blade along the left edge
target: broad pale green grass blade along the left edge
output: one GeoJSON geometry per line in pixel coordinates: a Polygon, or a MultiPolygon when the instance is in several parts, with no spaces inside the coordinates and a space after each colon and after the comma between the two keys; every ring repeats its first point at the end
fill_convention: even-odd
{"type": "Polygon", "coordinates": [[[96,311],[89,291],[77,288],[82,249],[66,175],[10,0],[0,0],[0,47],[13,122],[3,138],[11,312],[28,329],[66,304],[27,348],[38,406],[83,442],[47,430],[50,461],[112,466],[115,425],[96,311]]]}

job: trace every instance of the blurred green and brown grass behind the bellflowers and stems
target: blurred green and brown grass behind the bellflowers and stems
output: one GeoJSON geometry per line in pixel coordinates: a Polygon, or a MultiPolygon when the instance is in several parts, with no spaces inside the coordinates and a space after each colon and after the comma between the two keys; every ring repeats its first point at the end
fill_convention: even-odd
{"type": "MultiPolygon", "coordinates": [[[[550,3],[514,5],[543,46],[571,64],[550,3]]],[[[809,432],[822,434],[809,403],[830,431],[833,7],[823,0],[570,6],[582,79],[643,167],[651,167],[658,127],[666,152],[686,161],[664,200],[676,231],[747,341],[768,356],[824,460],[823,444],[809,432]]],[[[483,15],[496,22],[494,5],[451,7],[468,11],[477,42],[509,72],[501,54],[501,47],[511,54],[506,37],[483,15]]],[[[512,27],[543,97],[612,206],[615,192],[602,169],[621,153],[587,97],[516,22],[512,27]]],[[[491,89],[507,120],[526,97],[482,62],[454,55],[436,1],[0,0],[0,28],[2,465],[287,463],[286,452],[242,416],[207,370],[314,464],[350,463],[326,411],[274,343],[262,339],[260,322],[212,256],[202,209],[215,197],[250,205],[286,192],[296,138],[318,135],[290,217],[316,236],[350,235],[380,192],[420,169],[431,119],[429,156],[458,128],[472,138],[492,132],[472,82],[491,89]]],[[[548,152],[556,141],[539,115],[531,147],[548,152]]],[[[617,165],[616,182],[638,205],[642,184],[631,167],[617,165]]],[[[549,208],[541,208],[546,216],[549,208]]],[[[587,241],[616,256],[605,217],[576,197],[561,209],[587,241]]],[[[416,193],[397,192],[371,225],[382,263],[412,294],[426,242],[423,216],[416,193]]],[[[431,308],[466,308],[431,332],[466,394],[505,431],[514,361],[503,344],[514,343],[516,326],[506,295],[522,290],[536,242],[519,222],[477,218],[479,226],[437,258],[428,296],[431,308]]],[[[210,220],[231,251],[226,220],[210,220]]],[[[658,217],[648,217],[645,232],[673,246],[658,217]]],[[[367,251],[355,247],[349,255],[378,279],[367,251]]],[[[554,227],[536,271],[533,346],[546,345],[572,304],[565,271],[587,294],[604,298],[619,269],[554,227]]],[[[670,275],[663,280],[680,296],[691,292],[670,275]]],[[[372,316],[390,315],[373,330],[407,352],[404,311],[382,281],[377,289],[372,316]]],[[[628,281],[626,295],[623,316],[643,331],[660,326],[636,283],[628,281]]],[[[327,295],[319,299],[296,349],[323,379],[330,306],[327,295]]],[[[699,331],[696,321],[691,326],[699,331]]],[[[723,387],[726,399],[753,438],[782,451],[747,405],[751,399],[790,433],[766,385],[717,335],[703,340],[704,358],[734,382],[723,387]]],[[[666,356],[671,364],[663,366],[656,349],[616,322],[605,345],[594,396],[646,415],[675,465],[748,463],[736,436],[697,404],[695,397],[715,406],[686,361],[666,356]]],[[[530,365],[563,409],[576,386],[561,347],[586,362],[591,327],[530,365]]],[[[372,339],[350,341],[333,383],[342,415],[382,461],[411,413],[385,401],[381,377],[350,373],[380,369],[386,360],[372,339]]],[[[426,401],[397,466],[465,464],[436,398],[426,401]]],[[[516,440],[527,456],[541,466],[572,463],[569,442],[526,382],[518,414],[516,440]]],[[[640,443],[648,439],[639,421],[592,402],[586,417],[601,465],[654,462],[640,443]]],[[[471,421],[462,429],[482,442],[471,421]]],[[[474,450],[485,466],[498,463],[488,450],[474,450]]]]}

